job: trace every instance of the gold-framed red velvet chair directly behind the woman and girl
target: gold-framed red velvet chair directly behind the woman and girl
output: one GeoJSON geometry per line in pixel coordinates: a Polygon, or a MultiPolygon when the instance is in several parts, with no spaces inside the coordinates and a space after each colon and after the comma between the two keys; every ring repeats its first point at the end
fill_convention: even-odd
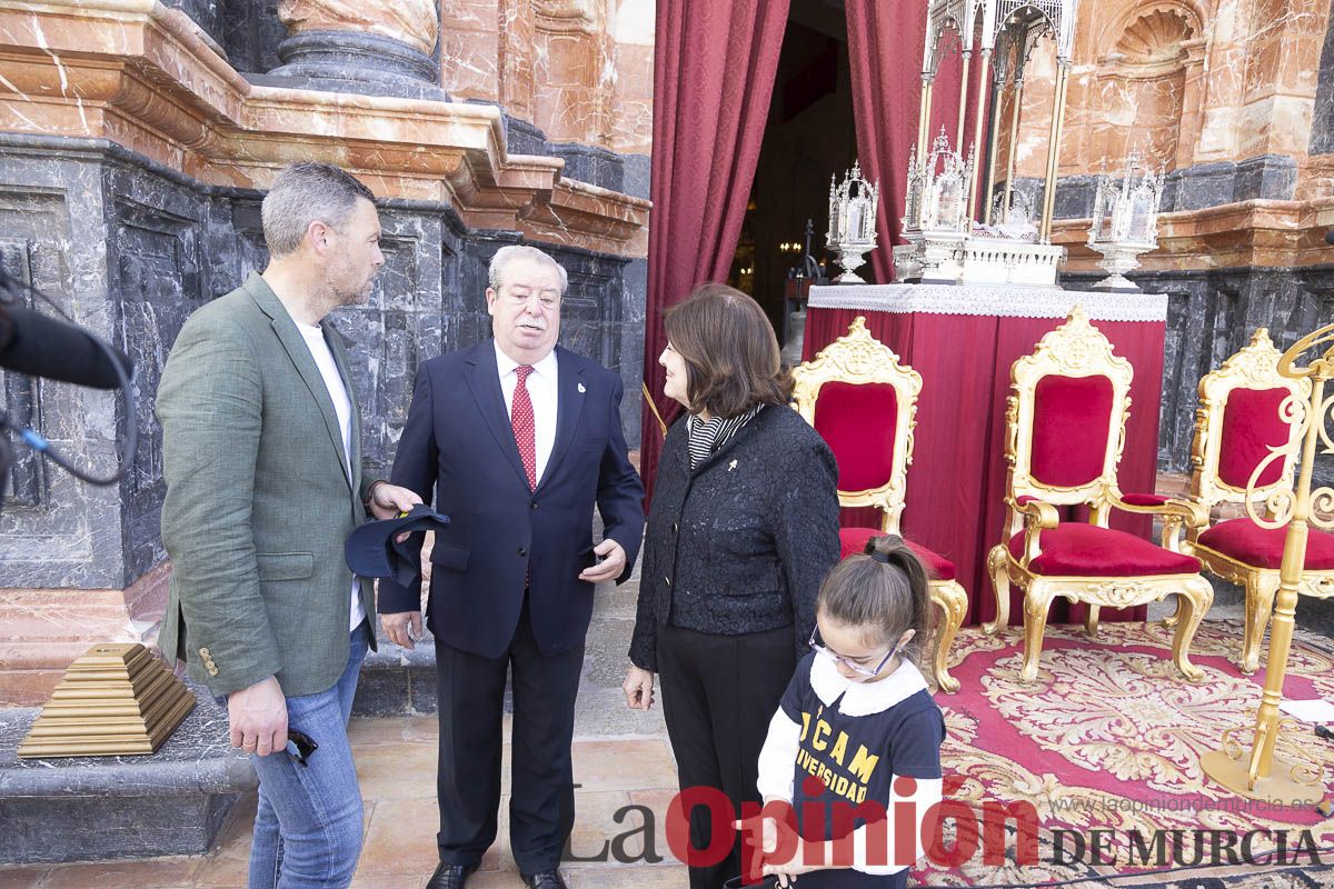
{"type": "MultiPolygon", "coordinates": [[[[846,558],[862,552],[878,534],[900,534],[899,518],[912,462],[912,428],[922,375],[899,364],[899,356],[866,329],[858,316],[839,337],[810,363],[792,369],[794,407],[828,443],[838,460],[839,505],[875,506],[879,528],[843,528],[846,558]]],[[[931,573],[931,601],[944,612],[934,633],[931,665],[940,689],[956,692],[947,658],[954,634],[963,624],[968,596],[955,580],[954,562],[926,546],[906,541],[931,573]]]]}

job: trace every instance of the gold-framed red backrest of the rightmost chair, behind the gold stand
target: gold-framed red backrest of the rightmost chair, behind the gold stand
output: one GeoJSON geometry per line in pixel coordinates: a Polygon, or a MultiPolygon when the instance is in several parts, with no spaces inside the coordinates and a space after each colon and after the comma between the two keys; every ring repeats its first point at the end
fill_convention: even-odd
{"type": "Polygon", "coordinates": [[[1199,381],[1199,409],[1191,446],[1191,496],[1206,508],[1243,502],[1251,480],[1251,498],[1291,489],[1295,450],[1301,435],[1285,403],[1310,401],[1310,380],[1278,372],[1282,353],[1259,328],[1247,347],[1199,381]]]}

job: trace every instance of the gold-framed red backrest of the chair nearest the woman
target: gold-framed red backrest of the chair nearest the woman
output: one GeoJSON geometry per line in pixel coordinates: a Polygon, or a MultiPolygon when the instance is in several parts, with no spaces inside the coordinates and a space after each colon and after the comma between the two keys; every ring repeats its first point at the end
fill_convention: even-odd
{"type": "Polygon", "coordinates": [[[794,407],[838,460],[839,502],[879,508],[883,529],[899,533],[922,375],[899,364],[858,316],[792,377],[794,407]]]}

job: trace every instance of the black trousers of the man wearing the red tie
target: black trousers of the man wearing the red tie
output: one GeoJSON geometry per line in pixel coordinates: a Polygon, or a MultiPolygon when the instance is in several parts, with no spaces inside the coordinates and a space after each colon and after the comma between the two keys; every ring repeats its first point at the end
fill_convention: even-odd
{"type": "Polygon", "coordinates": [[[496,658],[436,640],[440,697],[440,861],[472,865],[496,837],[502,716],[512,673],[510,848],[522,873],[551,870],[575,821],[570,742],[584,646],[544,656],[524,600],[510,649],[496,658]]]}

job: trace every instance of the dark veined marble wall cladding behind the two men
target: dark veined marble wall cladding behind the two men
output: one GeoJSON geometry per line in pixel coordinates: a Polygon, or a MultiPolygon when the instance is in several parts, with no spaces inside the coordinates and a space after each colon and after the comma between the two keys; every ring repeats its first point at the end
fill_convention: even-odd
{"type": "MultiPolygon", "coordinates": [[[[587,157],[592,173],[619,169],[596,152],[587,157]]],[[[261,199],[205,185],[105,140],[0,133],[0,265],[129,353],[139,429],[131,473],[109,488],[81,485],[16,448],[0,513],[5,585],[124,589],[165,558],[157,383],[189,313],[265,267],[261,199]],[[33,538],[40,545],[25,542],[33,538]]],[[[331,319],[352,356],[372,477],[388,477],[422,361],[491,336],[487,264],[522,240],[519,232],[470,231],[451,205],[435,201],[382,201],[380,224],[386,264],[370,301],[331,319]]],[[[620,373],[622,428],[635,448],[647,264],[539,247],[570,272],[560,343],[620,373]]],[[[109,393],[39,389],[0,373],[0,411],[40,429],[89,472],[111,474],[119,465],[113,439],[128,419],[109,393]]]]}

